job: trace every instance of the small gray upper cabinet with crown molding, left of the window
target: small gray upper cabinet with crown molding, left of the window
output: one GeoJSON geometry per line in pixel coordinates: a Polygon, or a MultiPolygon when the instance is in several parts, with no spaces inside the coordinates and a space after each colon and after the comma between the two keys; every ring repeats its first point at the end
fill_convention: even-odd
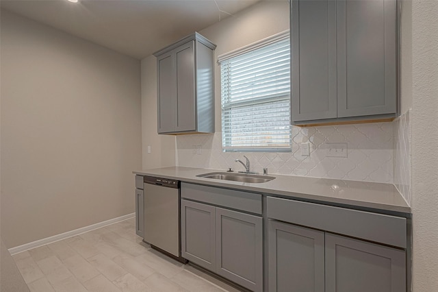
{"type": "Polygon", "coordinates": [[[194,33],[157,57],[158,134],[214,132],[214,49],[194,33]]]}

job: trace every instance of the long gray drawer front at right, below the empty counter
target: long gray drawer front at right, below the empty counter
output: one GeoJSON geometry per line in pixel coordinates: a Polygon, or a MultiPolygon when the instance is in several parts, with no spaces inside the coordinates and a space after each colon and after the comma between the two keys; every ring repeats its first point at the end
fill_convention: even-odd
{"type": "Polygon", "coordinates": [[[396,247],[407,247],[406,218],[268,197],[268,218],[345,234],[396,247]]]}

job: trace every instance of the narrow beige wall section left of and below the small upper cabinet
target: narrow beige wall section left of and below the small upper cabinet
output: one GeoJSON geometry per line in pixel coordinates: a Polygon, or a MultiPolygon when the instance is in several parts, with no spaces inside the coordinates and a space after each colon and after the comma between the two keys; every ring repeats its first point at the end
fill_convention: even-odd
{"type": "Polygon", "coordinates": [[[157,58],[142,60],[143,169],[175,166],[175,136],[157,134],[157,58]],[[151,147],[151,153],[147,148],[151,147]]]}

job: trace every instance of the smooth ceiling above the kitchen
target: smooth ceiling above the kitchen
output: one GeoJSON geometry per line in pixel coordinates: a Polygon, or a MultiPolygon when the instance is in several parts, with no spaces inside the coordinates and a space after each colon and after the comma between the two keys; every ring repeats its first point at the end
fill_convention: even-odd
{"type": "Polygon", "coordinates": [[[142,59],[258,1],[261,0],[1,0],[0,5],[142,59]]]}

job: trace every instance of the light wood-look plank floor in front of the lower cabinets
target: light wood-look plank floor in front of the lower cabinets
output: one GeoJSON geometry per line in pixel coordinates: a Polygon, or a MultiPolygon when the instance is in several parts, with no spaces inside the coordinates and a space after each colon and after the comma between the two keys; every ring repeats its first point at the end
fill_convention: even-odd
{"type": "Polygon", "coordinates": [[[237,291],[152,250],[135,219],[13,256],[30,291],[237,291]]]}

